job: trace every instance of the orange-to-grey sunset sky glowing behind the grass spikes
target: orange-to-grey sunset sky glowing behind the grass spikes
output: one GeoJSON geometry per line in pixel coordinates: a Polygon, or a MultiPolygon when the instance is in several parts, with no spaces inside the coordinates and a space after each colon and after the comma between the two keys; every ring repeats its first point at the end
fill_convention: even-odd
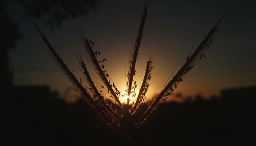
{"type": "MultiPolygon", "coordinates": [[[[94,41],[94,49],[101,52],[101,59],[106,58],[105,68],[120,91],[126,88],[129,53],[134,45],[143,6],[144,1],[102,0],[96,10],[78,18],[86,36],[94,41]]],[[[179,84],[175,93],[207,97],[218,95],[221,89],[256,84],[256,1],[152,0],[148,5],[136,65],[136,79],[140,83],[148,57],[153,59],[148,98],[161,91],[170,74],[181,67],[186,56],[198,46],[227,8],[214,44],[206,51],[206,57],[179,84]]],[[[8,12],[21,32],[21,39],[9,54],[14,83],[47,84],[65,96],[71,83],[51,62],[35,28],[27,17],[23,17],[23,7],[11,2],[8,12]]],[[[75,56],[82,52],[76,36],[79,31],[77,20],[68,18],[54,30],[42,24],[39,26],[70,69],[80,76],[75,56]]],[[[92,77],[98,81],[94,75],[92,77]]]]}

